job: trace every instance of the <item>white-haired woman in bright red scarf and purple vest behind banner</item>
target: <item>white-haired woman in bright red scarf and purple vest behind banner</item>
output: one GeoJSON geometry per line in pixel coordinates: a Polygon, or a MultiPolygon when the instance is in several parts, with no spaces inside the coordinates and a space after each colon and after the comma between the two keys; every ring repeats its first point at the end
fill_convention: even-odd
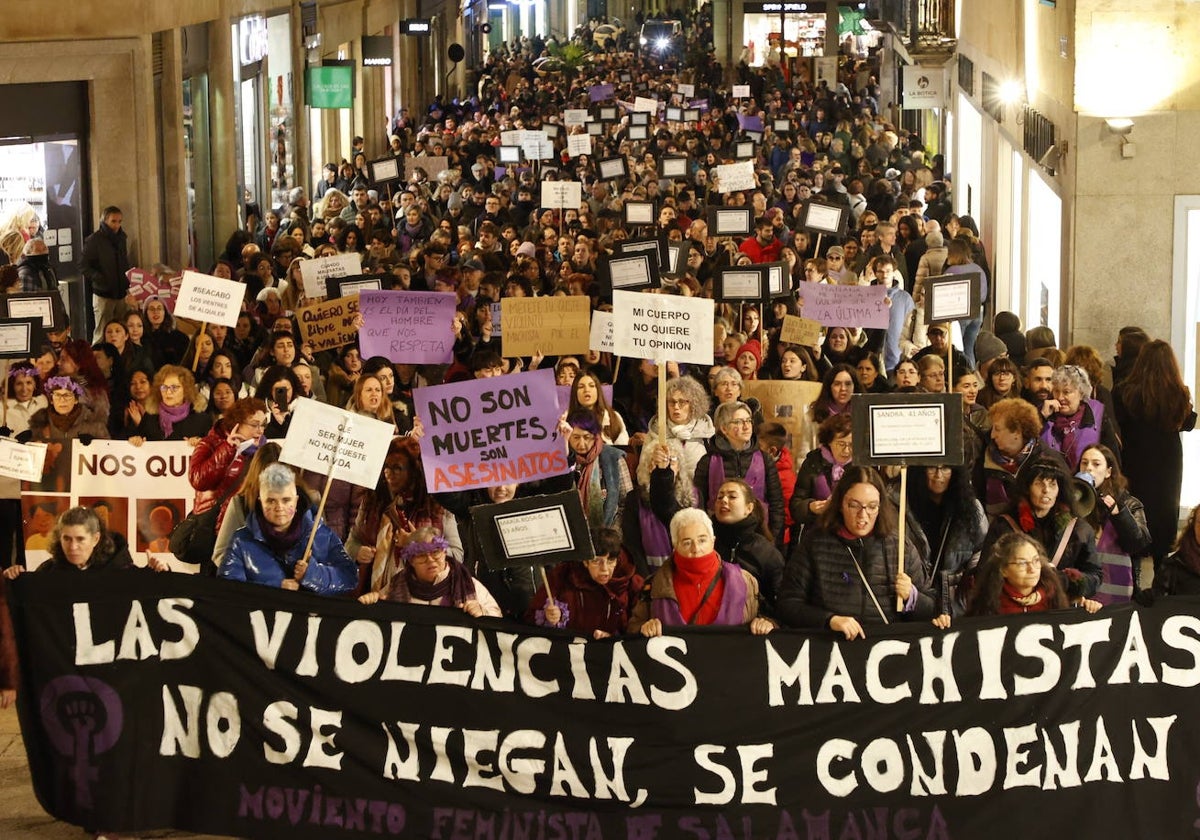
{"type": "Polygon", "coordinates": [[[713,521],[696,508],[671,520],[673,556],[650,578],[634,607],[629,632],[661,636],[664,626],[748,625],[766,636],[776,624],[758,614],[758,582],[754,575],[716,553],[713,521]]]}

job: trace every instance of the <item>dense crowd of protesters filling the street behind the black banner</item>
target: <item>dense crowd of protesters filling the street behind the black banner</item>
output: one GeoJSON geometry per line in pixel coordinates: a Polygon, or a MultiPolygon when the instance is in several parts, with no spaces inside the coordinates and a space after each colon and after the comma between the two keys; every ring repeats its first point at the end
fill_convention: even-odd
{"type": "MultiPolygon", "coordinates": [[[[365,605],[444,606],[594,638],[721,624],[850,640],[894,622],[946,628],[959,617],[1068,605],[1094,612],[1147,588],[1146,559],[1162,594],[1200,592],[1195,512],[1176,539],[1180,432],[1195,414],[1171,347],[1128,328],[1109,366],[1096,348],[1060,349],[1049,328],[1022,330],[1010,312],[985,320],[991,268],[978,228],[954,214],[941,158],[880,112],[870,56],[847,44],[833,85],[779,67],[742,68],[752,95],[739,100],[721,86],[719,67],[652,71],[608,52],[550,73],[536,58],[492,53],[478,95],[439,98],[418,115],[401,109],[388,139],[415,164],[407,181],[373,184],[356,138],[348,160],[325,167],[311,200],[298,187],[262,221],[247,208],[246,229],[206,266],[245,286],[232,329],[194,331],[175,323],[168,301],[130,298],[121,211],[106,209],[83,248],[94,342],[50,332],[40,355],[11,365],[0,432],[48,444],[50,481],[64,469],[54,455],[70,440],[186,442],[193,516],[208,518],[181,542],[221,578],[365,605]],[[660,114],[637,140],[625,114],[593,137],[593,155],[568,155],[566,137],[587,128],[566,128],[563,114],[589,108],[589,89],[601,84],[618,103],[656,97],[701,115],[660,114]],[[679,84],[694,96],[679,97],[679,84]],[[732,161],[745,116],[766,125],[756,186],[722,191],[715,167],[732,161]],[[788,131],[772,131],[779,116],[790,118],[788,131]],[[558,126],[552,161],[498,164],[502,132],[545,126],[558,126]],[[662,158],[679,156],[686,174],[664,176],[662,158]],[[625,158],[626,174],[601,178],[596,161],[612,157],[625,158]],[[446,168],[434,172],[443,158],[446,168]],[[539,202],[541,182],[556,179],[582,181],[578,208],[539,202]],[[653,224],[623,223],[634,200],[655,203],[653,224]],[[805,229],[811,202],[842,208],[847,234],[805,229]],[[715,236],[706,221],[714,206],[751,208],[752,233],[715,236]],[[716,301],[712,365],[666,362],[661,424],[658,362],[599,352],[512,358],[491,306],[582,295],[604,310],[606,258],[623,240],[647,236],[689,245],[678,270],[664,272],[662,294],[712,296],[728,265],[779,260],[791,280],[774,300],[716,301]],[[311,302],[302,262],[349,252],[384,288],[457,296],[452,364],[364,359],[356,342],[316,352],[304,341],[295,319],[311,302]],[[953,347],[949,324],[924,323],[925,281],[962,272],[982,276],[983,306],[953,347]],[[814,346],[784,343],[785,317],[803,312],[800,281],[881,286],[889,325],[834,326],[814,346]],[[570,473],[430,493],[414,391],[535,367],[553,368],[569,389],[559,424],[570,473]],[[820,383],[804,434],[743,398],[743,384],[758,379],[820,383]],[[854,457],[853,396],[892,391],[961,396],[964,463],[912,468],[906,528],[894,472],[854,457]],[[373,490],[326,488],[324,476],[280,461],[299,397],[392,425],[373,490]],[[546,582],[533,566],[490,568],[473,506],[570,488],[594,557],[547,570],[546,582]]],[[[11,580],[25,568],[20,521],[34,511],[22,508],[14,482],[2,490],[0,560],[11,580]]],[[[88,509],[62,515],[47,545],[44,569],[131,566],[121,535],[88,509]]]]}

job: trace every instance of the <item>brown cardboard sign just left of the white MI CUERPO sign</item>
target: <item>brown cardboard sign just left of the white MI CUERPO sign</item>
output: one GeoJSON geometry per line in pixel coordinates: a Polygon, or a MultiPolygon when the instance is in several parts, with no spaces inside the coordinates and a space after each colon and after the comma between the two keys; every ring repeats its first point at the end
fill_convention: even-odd
{"type": "Polygon", "coordinates": [[[590,298],[502,298],[500,313],[506,356],[588,352],[590,298]]]}

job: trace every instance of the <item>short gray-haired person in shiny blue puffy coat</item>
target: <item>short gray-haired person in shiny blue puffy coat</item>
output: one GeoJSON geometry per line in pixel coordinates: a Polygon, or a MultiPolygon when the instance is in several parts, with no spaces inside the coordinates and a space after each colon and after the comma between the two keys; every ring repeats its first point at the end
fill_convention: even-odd
{"type": "Polygon", "coordinates": [[[313,526],[295,472],[283,463],[265,467],[258,476],[258,504],[234,534],[217,575],[318,595],[349,592],[358,583],[358,568],[324,522],[316,524],[312,553],[305,556],[313,526]]]}

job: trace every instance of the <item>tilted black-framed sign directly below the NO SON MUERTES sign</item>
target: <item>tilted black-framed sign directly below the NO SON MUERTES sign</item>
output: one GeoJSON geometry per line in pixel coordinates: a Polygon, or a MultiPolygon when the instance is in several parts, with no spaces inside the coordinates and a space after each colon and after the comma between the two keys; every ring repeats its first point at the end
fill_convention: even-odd
{"type": "Polygon", "coordinates": [[[470,521],[493,571],[595,557],[583,503],[574,490],[475,505],[470,521]]]}

